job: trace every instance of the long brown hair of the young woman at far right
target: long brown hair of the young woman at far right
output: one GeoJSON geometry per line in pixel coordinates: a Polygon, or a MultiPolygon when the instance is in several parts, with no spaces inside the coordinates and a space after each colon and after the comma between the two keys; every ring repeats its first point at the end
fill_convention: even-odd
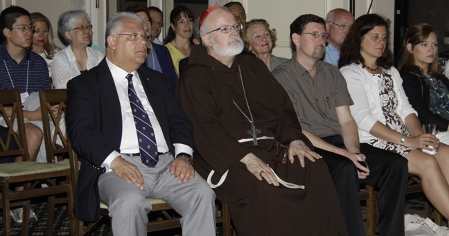
{"type": "MultiPolygon", "coordinates": [[[[408,71],[410,73],[416,74],[414,55],[407,50],[407,44],[412,44],[413,50],[416,45],[425,42],[425,40],[428,39],[431,33],[435,33],[435,35],[438,35],[437,30],[427,23],[416,24],[407,30],[404,36],[404,43],[402,48],[403,53],[399,63],[400,71],[408,71]]],[[[430,73],[430,75],[434,76],[435,78],[439,78],[440,73],[438,71],[438,52],[435,53],[434,61],[429,64],[428,71],[426,72],[430,73]]],[[[419,75],[421,75],[421,73],[419,75]]]]}

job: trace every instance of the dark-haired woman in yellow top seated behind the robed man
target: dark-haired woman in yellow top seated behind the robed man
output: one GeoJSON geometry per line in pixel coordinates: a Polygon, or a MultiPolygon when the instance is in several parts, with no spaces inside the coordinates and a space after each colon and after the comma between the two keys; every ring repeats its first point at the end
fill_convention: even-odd
{"type": "Polygon", "coordinates": [[[170,28],[164,44],[170,51],[178,77],[179,61],[190,55],[194,18],[192,10],[185,6],[177,6],[170,12],[170,28]]]}

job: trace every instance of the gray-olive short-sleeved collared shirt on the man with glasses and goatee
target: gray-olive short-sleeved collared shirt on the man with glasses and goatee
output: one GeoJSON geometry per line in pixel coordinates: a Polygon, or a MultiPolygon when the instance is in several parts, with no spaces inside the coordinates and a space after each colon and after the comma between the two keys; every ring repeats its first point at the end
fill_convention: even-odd
{"type": "Polygon", "coordinates": [[[294,53],[273,75],[290,96],[303,129],[319,137],[341,134],[335,108],[353,105],[353,100],[337,67],[317,61],[317,72],[312,78],[294,53]]]}

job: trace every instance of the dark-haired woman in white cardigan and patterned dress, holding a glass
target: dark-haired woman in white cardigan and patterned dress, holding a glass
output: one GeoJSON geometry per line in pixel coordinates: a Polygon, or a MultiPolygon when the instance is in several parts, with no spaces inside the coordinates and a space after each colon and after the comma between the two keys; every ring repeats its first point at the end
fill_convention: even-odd
{"type": "Polygon", "coordinates": [[[423,134],[408,102],[388,47],[388,23],[376,14],[355,20],[341,48],[338,66],[354,101],[360,143],[396,152],[421,178],[425,196],[449,219],[449,146],[423,134]],[[436,150],[436,154],[428,154],[436,150]]]}

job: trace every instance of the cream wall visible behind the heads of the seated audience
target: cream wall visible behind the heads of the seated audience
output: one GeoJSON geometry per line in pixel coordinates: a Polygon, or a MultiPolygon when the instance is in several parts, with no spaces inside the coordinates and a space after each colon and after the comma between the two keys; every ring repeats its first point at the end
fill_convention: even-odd
{"type": "MultiPolygon", "coordinates": [[[[86,1],[86,12],[92,18],[94,25],[94,39],[93,44],[102,48],[105,45],[104,33],[107,16],[107,0],[99,0],[100,8],[96,8],[96,1],[86,1]]],[[[117,0],[109,0],[109,14],[114,13],[117,0]]],[[[216,2],[216,0],[209,0],[216,2]]],[[[311,13],[325,17],[329,10],[334,8],[344,8],[349,10],[349,0],[238,0],[243,3],[247,11],[247,20],[262,18],[266,19],[272,28],[276,28],[278,40],[273,54],[279,57],[291,57],[292,51],[290,49],[290,29],[289,26],[294,19],[299,15],[311,13]]],[[[370,0],[356,0],[355,1],[355,17],[364,15],[369,8],[370,0]]],[[[173,8],[173,0],[147,0],[151,6],[157,6],[170,12],[173,8]]],[[[57,22],[60,13],[71,9],[71,0],[0,0],[0,8],[6,8],[14,4],[26,8],[30,12],[42,12],[42,14],[49,17],[53,30],[55,33],[55,42],[61,44],[57,37],[57,22]]],[[[391,19],[391,26],[394,26],[394,1],[391,0],[376,0],[373,1],[371,7],[372,13],[378,13],[391,19]]],[[[170,13],[164,15],[164,22],[166,26],[162,29],[161,39],[164,37],[167,26],[170,25],[170,13]]],[[[391,46],[393,46],[393,33],[391,35],[391,46]]]]}

